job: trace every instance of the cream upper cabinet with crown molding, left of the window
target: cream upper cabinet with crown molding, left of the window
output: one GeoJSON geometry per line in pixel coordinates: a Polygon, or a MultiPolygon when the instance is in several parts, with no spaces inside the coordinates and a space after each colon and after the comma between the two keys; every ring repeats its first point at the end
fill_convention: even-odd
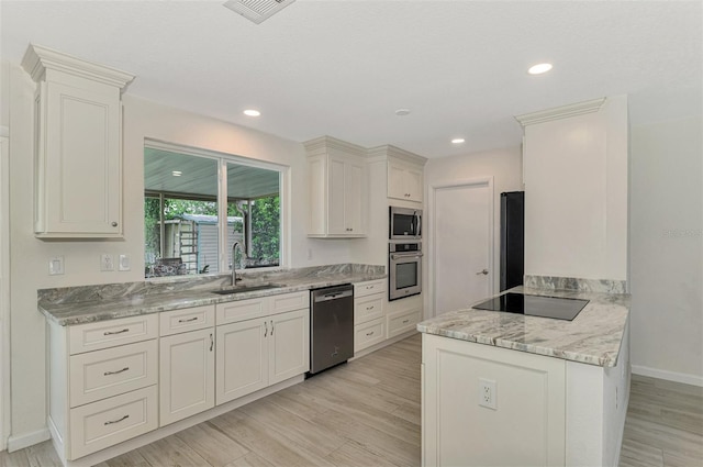
{"type": "Polygon", "coordinates": [[[35,96],[34,232],[122,236],[121,92],[133,75],[30,45],[35,96]]]}

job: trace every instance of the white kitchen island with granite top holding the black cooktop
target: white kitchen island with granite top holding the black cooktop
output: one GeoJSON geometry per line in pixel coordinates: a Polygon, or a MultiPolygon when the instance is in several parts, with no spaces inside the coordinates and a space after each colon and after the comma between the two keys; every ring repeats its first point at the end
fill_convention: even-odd
{"type": "Polygon", "coordinates": [[[423,465],[617,465],[629,296],[511,292],[589,303],[573,321],[469,308],[420,323],[423,465]]]}

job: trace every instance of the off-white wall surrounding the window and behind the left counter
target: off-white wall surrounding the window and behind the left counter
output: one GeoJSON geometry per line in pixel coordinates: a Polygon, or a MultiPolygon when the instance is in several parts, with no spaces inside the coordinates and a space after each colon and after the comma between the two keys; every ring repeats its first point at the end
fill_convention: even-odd
{"type": "MultiPolygon", "coordinates": [[[[306,238],[308,194],[302,144],[258,131],[159,105],[126,94],[123,137],[124,240],[40,241],[33,234],[33,96],[35,84],[19,65],[10,76],[11,197],[11,446],[41,441],[46,429],[45,323],[36,310],[42,288],[137,281],[144,271],[143,154],[144,138],[202,147],[290,167],[290,266],[303,267],[350,260],[349,241],[306,238]],[[308,251],[313,251],[308,259],[308,251]],[[102,253],[129,254],[131,271],[100,273],[102,253]],[[48,276],[48,260],[65,257],[65,275],[48,276]]],[[[138,79],[138,77],[137,77],[138,79]]],[[[3,102],[8,102],[3,93],[3,102]]],[[[4,115],[0,113],[0,116],[4,115]]],[[[86,174],[89,177],[90,174],[86,174]]]]}

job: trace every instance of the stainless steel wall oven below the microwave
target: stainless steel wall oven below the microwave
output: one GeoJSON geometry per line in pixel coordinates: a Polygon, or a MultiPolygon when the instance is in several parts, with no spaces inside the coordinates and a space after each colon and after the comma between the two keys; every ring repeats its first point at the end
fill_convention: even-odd
{"type": "Polygon", "coordinates": [[[398,300],[422,292],[422,244],[389,244],[388,299],[398,300]]]}

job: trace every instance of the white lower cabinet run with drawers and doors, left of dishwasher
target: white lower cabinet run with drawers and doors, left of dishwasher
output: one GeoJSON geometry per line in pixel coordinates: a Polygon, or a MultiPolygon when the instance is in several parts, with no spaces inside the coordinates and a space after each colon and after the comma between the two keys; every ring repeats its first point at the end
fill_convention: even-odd
{"type": "Polygon", "coordinates": [[[66,465],[310,369],[308,290],[47,329],[48,425],[66,465]]]}

